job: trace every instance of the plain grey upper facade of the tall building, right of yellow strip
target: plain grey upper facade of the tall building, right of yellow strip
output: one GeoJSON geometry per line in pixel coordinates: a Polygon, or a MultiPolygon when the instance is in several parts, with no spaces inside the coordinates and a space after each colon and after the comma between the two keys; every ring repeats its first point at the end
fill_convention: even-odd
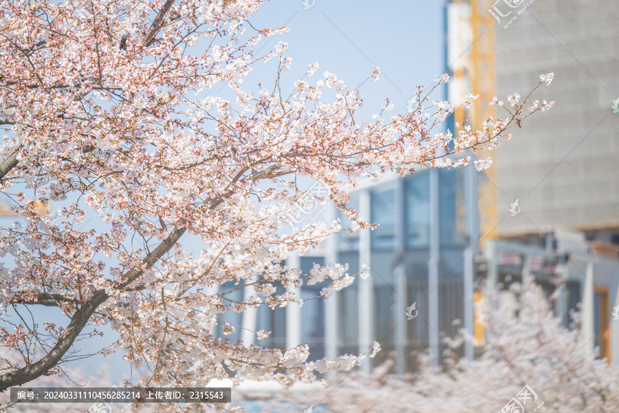
{"type": "Polygon", "coordinates": [[[516,199],[522,209],[501,222],[499,236],[562,226],[619,242],[619,117],[611,109],[619,97],[619,3],[538,0],[508,28],[502,23],[522,6],[497,7],[511,12],[496,25],[497,96],[523,94],[539,74],[554,72],[535,96],[556,102],[495,153],[499,211],[509,217],[516,199]]]}

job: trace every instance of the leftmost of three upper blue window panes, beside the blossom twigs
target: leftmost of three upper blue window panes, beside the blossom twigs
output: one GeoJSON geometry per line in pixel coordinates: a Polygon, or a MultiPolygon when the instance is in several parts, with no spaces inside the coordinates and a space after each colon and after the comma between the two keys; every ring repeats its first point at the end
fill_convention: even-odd
{"type": "Polygon", "coordinates": [[[371,232],[372,249],[389,250],[394,247],[395,189],[381,188],[370,193],[370,221],[380,226],[371,232]]]}

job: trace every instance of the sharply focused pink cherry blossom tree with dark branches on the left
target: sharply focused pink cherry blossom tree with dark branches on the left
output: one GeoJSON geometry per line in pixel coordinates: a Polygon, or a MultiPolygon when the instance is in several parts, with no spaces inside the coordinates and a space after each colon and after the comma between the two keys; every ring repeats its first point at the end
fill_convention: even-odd
{"type": "MultiPolygon", "coordinates": [[[[1,229],[0,303],[52,306],[67,317],[65,328],[0,330],[3,346],[23,354],[4,360],[0,390],[58,372],[76,339],[102,326],[120,335],[107,352],[122,349],[133,366],[148,364],[142,384],[202,386],[234,372],[235,384],[274,378],[289,386],[355,366],[378,344],[360,356],[309,363],[307,346],[246,347],[210,334],[224,313],[302,302],[276,295],[274,282],[328,280],[326,299],[354,281],[345,266],[302,274],[281,264],[345,230],[333,222],[281,231],[307,195],[296,178],[326,187],[321,202],[343,211],[351,231],[371,228],[348,206],[347,187],[387,171],[468,165],[466,149],[494,149],[510,138],[508,129],[552,106],[514,94],[510,105],[500,103],[504,118],[479,131],[461,125],[455,136],[440,133],[437,125],[457,109],[431,99],[445,75],[419,87],[405,114],[387,116],[387,99],[362,121],[360,87],[347,89],[328,72],[311,81],[317,64],[284,83],[292,64],[286,44],[255,52],[263,38],[287,31],[253,25],[259,3],[0,3],[0,184],[23,216],[1,229]],[[274,81],[244,85],[263,61],[271,61],[274,81]],[[223,85],[235,100],[217,96],[223,85]],[[56,213],[37,213],[37,202],[56,205],[56,213]],[[94,213],[105,229],[82,230],[94,213]],[[184,243],[202,243],[201,252],[184,243]],[[226,282],[253,293],[234,301],[213,290],[226,282]]],[[[545,75],[539,85],[550,81],[545,75]]]]}

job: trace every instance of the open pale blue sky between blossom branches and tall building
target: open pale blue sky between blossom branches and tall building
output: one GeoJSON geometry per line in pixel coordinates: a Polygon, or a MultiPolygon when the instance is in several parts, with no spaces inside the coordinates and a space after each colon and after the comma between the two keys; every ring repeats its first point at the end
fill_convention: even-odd
{"type": "Polygon", "coordinates": [[[277,41],[289,44],[293,63],[286,78],[290,83],[310,63],[318,62],[315,77],[329,71],[348,87],[355,87],[377,65],[382,70],[380,81],[362,87],[364,103],[376,109],[382,98],[389,97],[394,112],[404,112],[414,86],[428,85],[444,72],[443,6],[439,0],[316,0],[305,9],[301,0],[275,0],[265,2],[250,23],[290,28],[287,34],[271,38],[265,47],[277,41]]]}

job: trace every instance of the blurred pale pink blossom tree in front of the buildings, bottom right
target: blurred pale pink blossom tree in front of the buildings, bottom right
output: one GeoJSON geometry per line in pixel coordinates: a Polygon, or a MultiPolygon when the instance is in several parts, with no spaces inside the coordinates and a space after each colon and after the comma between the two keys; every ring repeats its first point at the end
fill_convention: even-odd
{"type": "Polygon", "coordinates": [[[475,360],[459,359],[453,351],[472,337],[445,337],[452,358],[443,371],[432,367],[427,354],[419,354],[420,369],[398,377],[388,359],[371,375],[339,374],[321,392],[280,392],[261,412],[283,411],[277,406],[285,402],[338,413],[522,412],[501,409],[527,385],[532,392],[525,412],[618,411],[619,374],[597,358],[599,348],[587,346],[591,337],[580,333],[580,313],[573,313],[572,326],[565,328],[552,312],[561,290],[546,299],[526,277],[509,291],[516,299],[499,299],[503,290],[484,291],[477,311],[487,337],[475,360]]]}

